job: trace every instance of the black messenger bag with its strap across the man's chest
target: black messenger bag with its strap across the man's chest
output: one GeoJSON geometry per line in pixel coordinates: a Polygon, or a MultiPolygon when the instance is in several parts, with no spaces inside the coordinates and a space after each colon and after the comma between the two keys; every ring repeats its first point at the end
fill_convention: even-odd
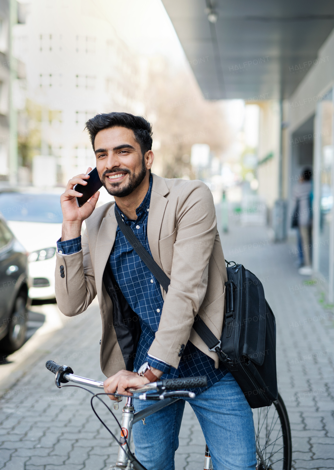
{"type": "MultiPolygon", "coordinates": [[[[133,249],[167,292],[169,277],[140,243],[115,208],[119,228],[133,249]]],[[[232,261],[234,262],[234,261],[232,261]]],[[[266,407],[278,397],[276,322],[264,298],[260,280],[242,265],[227,262],[225,323],[218,341],[197,314],[193,328],[210,351],[218,354],[239,384],[251,408],[266,407]]]]}

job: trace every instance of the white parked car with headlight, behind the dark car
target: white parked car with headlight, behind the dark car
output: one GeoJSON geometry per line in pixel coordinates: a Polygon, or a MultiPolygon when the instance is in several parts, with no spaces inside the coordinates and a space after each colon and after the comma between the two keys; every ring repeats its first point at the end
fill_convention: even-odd
{"type": "Polygon", "coordinates": [[[16,239],[29,252],[29,297],[55,298],[56,241],[62,234],[60,195],[2,192],[0,214],[16,239]]]}

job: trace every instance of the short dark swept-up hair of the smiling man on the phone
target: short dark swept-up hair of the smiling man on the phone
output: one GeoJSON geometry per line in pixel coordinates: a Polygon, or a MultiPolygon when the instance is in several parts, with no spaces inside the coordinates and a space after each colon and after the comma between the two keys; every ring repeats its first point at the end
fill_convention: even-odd
{"type": "Polygon", "coordinates": [[[135,141],[139,143],[141,153],[144,154],[152,149],[152,125],[142,116],[133,116],[129,113],[103,113],[88,119],[85,125],[91,139],[93,150],[95,150],[95,136],[98,132],[109,127],[126,127],[131,129],[135,141]]]}

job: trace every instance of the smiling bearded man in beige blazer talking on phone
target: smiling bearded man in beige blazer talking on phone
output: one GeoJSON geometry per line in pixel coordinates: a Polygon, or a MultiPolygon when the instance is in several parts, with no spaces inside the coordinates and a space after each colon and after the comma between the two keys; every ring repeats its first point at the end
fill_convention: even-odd
{"type": "MultiPolygon", "coordinates": [[[[89,176],[69,181],[61,196],[58,306],[65,315],[77,315],[98,296],[107,393],[130,394],[128,387],[162,376],[206,375],[208,387],[187,401],[202,426],[215,470],[254,470],[252,411],[217,354],[192,329],[197,313],[217,338],[223,326],[227,276],[210,190],[201,181],[151,174],[152,130],[144,118],[100,114],[86,128],[97,171],[116,204],[94,210],[96,193],[78,208],[75,196],[81,194],[73,187],[85,185],[89,176]],[[171,279],[167,294],[126,241],[115,210],[171,279]]],[[[135,400],[137,410],[150,404],[135,400]]],[[[133,426],[136,457],[149,470],[174,469],[184,406],[179,400],[148,416],[146,425],[133,426]]]]}

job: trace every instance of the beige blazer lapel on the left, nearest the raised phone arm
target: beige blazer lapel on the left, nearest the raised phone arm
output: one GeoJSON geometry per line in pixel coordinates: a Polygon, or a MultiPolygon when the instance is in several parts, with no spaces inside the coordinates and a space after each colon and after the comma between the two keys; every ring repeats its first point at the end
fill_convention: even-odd
{"type": "Polygon", "coordinates": [[[102,276],[104,268],[106,267],[116,237],[117,220],[114,213],[114,207],[115,205],[113,204],[108,216],[102,219],[96,240],[94,271],[96,290],[98,297],[100,298],[102,296],[102,276]]]}

